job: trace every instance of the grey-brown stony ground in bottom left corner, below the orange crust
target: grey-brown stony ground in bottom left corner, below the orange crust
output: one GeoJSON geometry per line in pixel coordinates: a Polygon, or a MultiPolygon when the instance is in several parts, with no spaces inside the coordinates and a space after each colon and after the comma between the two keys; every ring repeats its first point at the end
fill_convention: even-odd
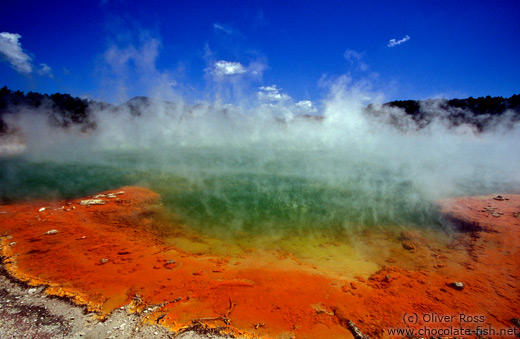
{"type": "Polygon", "coordinates": [[[0,263],[0,338],[217,338],[142,324],[143,316],[126,308],[100,319],[67,298],[47,295],[45,289],[12,277],[0,263]]]}

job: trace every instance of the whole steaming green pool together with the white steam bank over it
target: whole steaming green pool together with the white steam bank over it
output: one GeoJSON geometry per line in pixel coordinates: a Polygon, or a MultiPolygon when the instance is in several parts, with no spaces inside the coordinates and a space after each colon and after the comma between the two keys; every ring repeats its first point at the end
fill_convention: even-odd
{"type": "Polygon", "coordinates": [[[93,112],[87,134],[24,112],[10,122],[23,150],[0,157],[2,199],[143,185],[184,225],[239,237],[435,228],[436,199],[518,190],[518,128],[477,134],[439,120],[416,130],[390,112],[397,130],[354,94],[333,89],[319,117],[289,104],[147,101],[138,116],[93,112]]]}

